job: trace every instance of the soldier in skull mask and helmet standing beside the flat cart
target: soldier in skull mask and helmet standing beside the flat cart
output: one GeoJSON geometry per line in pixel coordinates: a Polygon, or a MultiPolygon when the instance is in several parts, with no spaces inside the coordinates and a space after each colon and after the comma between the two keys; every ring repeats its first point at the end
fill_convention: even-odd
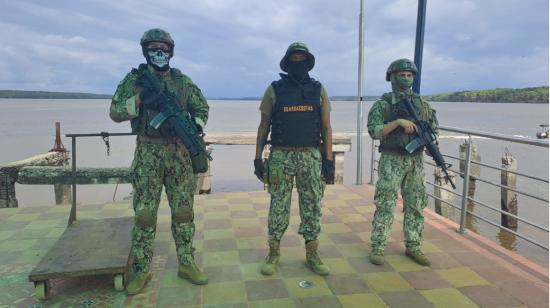
{"type": "MultiPolygon", "coordinates": [[[[177,102],[194,119],[199,129],[208,119],[208,104],[200,89],[189,77],[169,66],[174,54],[174,41],[161,29],[146,31],[141,38],[142,52],[149,70],[163,89],[174,93],[177,102]]],[[[130,120],[137,133],[137,145],[131,166],[134,188],[133,207],[135,224],[132,230],[134,278],[127,285],[128,294],[137,294],[151,279],[150,263],[153,257],[157,211],[162,187],[165,187],[172,213],[172,235],[179,259],[178,275],[195,284],[206,284],[208,279],[197,268],[193,258],[193,194],[196,179],[190,155],[185,146],[163,126],[149,125],[158,114],[156,92],[144,85],[139,70],[133,69],[120,82],[111,102],[110,116],[115,122],[130,120]]]]}

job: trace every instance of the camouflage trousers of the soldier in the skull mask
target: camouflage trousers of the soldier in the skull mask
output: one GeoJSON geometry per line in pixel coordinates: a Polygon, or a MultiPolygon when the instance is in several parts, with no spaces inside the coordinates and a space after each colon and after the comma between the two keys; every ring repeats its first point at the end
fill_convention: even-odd
{"type": "Polygon", "coordinates": [[[179,262],[190,262],[194,251],[193,194],[196,180],[189,152],[179,144],[138,142],[131,172],[135,211],[132,230],[134,271],[149,271],[163,186],[170,205],[172,236],[179,262]]]}

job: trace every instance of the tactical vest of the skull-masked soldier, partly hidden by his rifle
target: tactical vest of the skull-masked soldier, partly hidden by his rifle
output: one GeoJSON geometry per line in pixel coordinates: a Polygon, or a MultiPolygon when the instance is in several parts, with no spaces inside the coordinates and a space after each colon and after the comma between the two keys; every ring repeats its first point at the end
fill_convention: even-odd
{"type": "MultiPolygon", "coordinates": [[[[136,74],[136,76],[139,76],[140,73],[139,70],[133,69],[132,74],[136,74]]],[[[175,93],[178,97],[178,104],[183,106],[185,110],[188,110],[187,100],[185,99],[185,97],[187,96],[187,87],[185,87],[185,75],[183,75],[180,70],[178,70],[177,68],[170,68],[170,74],[165,76],[164,78],[161,77],[161,75],[158,74],[156,71],[151,72],[151,74],[160,81],[160,84],[162,84],[162,87],[165,90],[175,93]]],[[[145,108],[140,107],[138,110],[138,116],[130,121],[132,132],[148,137],[169,137],[170,133],[164,131],[165,129],[167,129],[164,128],[166,125],[161,126],[159,129],[154,129],[149,125],[151,120],[157,114],[158,111],[146,110],[145,108]]]]}

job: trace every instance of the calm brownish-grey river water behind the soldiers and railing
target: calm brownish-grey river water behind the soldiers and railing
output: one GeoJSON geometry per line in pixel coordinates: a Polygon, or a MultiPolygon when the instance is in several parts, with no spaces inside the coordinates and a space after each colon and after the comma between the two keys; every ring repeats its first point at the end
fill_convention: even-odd
{"type": "MultiPolygon", "coordinates": [[[[129,123],[114,123],[108,116],[109,100],[48,100],[48,99],[0,99],[0,165],[47,152],[54,144],[54,122],[61,122],[62,135],[67,133],[128,132],[129,123]]],[[[208,132],[256,131],[260,113],[257,101],[209,101],[210,119],[208,132]]],[[[372,102],[364,104],[366,115],[372,102]]],[[[432,103],[437,110],[439,123],[444,126],[504,134],[508,136],[535,138],[540,124],[548,124],[548,105],[497,104],[497,103],[432,103]]],[[[357,128],[357,104],[354,102],[332,103],[332,127],[334,132],[355,132],[357,128]]],[[[363,127],[365,127],[363,125],[363,127]]],[[[366,131],[366,127],[364,128],[366,131]]],[[[458,147],[464,136],[440,132],[442,152],[458,156],[458,147]]],[[[99,137],[79,139],[77,164],[88,167],[128,166],[132,160],[135,137],[112,137],[110,155],[99,137]]],[[[70,139],[63,137],[70,149],[70,139]]],[[[356,174],[356,138],[352,138],[352,151],[345,156],[344,184],[353,185],[356,174]]],[[[518,160],[518,171],[548,179],[548,148],[539,148],[510,142],[474,138],[481,160],[485,164],[500,166],[505,149],[518,160]]],[[[363,182],[370,180],[370,144],[363,137],[363,182]]],[[[215,146],[212,162],[212,191],[261,190],[262,185],[252,174],[254,146],[215,146]]],[[[458,162],[449,159],[457,168],[458,162]]],[[[426,167],[426,177],[433,182],[433,167],[426,167]]],[[[500,172],[482,168],[481,177],[500,183],[500,172]]],[[[457,179],[457,193],[462,193],[461,180],[457,179]]],[[[518,189],[548,198],[548,184],[518,177],[518,189]]],[[[17,185],[20,207],[54,204],[52,186],[17,185]]],[[[431,191],[431,188],[429,188],[431,191]]],[[[83,185],[78,187],[78,202],[82,204],[104,203],[129,195],[129,185],[83,185]]],[[[500,208],[500,188],[479,183],[476,199],[500,208]]],[[[430,200],[433,207],[433,200],[430,200]]],[[[458,197],[455,204],[460,204],[458,197]]],[[[548,202],[519,195],[518,215],[548,228],[548,202]]],[[[474,212],[492,221],[499,222],[500,214],[476,205],[474,212]]],[[[457,213],[449,213],[457,219],[457,213]]],[[[548,252],[499,232],[496,227],[473,218],[468,224],[480,234],[516,250],[523,255],[548,266],[548,252]]],[[[548,233],[520,223],[518,232],[548,245],[548,233]]]]}

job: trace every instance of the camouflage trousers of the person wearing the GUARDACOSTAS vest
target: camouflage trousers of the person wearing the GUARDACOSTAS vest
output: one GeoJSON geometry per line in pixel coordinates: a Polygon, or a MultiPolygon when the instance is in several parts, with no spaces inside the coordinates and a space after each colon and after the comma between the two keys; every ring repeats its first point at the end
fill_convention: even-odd
{"type": "Polygon", "coordinates": [[[272,148],[268,161],[271,205],[268,217],[269,239],[280,241],[288,228],[292,187],[296,179],[300,207],[300,229],[306,241],[316,240],[321,231],[321,153],[317,148],[300,151],[272,148]]]}

